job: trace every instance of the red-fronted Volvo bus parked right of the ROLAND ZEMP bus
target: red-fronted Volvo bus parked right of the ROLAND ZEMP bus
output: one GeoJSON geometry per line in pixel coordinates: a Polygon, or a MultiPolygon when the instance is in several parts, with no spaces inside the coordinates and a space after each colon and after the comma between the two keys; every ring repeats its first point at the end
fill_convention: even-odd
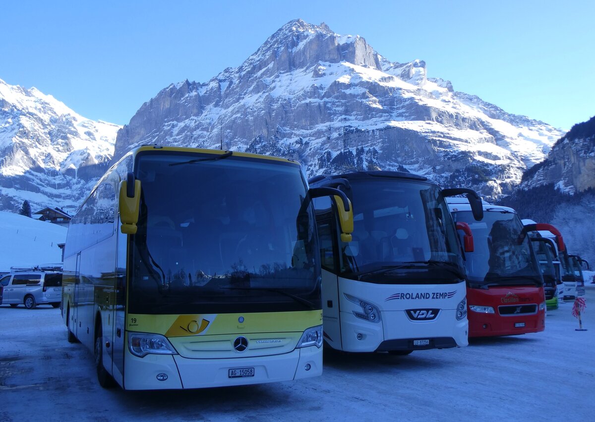
{"type": "Polygon", "coordinates": [[[455,222],[469,225],[474,251],[465,253],[469,337],[543,331],[543,277],[521,219],[508,207],[483,204],[474,221],[464,198],[448,199],[455,222]]]}

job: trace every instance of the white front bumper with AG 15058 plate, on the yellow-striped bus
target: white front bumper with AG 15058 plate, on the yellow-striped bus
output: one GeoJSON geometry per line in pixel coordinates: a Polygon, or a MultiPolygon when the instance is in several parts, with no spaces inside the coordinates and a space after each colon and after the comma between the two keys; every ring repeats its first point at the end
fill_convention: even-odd
{"type": "Polygon", "coordinates": [[[281,355],[190,359],[180,355],[136,357],[126,351],[124,389],[191,389],[290,381],[322,374],[322,348],[294,349],[281,355]],[[230,378],[230,369],[252,369],[253,376],[230,378]],[[164,379],[165,374],[167,379],[164,379]]]}

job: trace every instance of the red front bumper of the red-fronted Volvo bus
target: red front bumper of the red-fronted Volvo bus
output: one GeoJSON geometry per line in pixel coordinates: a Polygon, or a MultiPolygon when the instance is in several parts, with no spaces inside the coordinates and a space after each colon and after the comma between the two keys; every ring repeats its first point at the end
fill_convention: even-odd
{"type": "Polygon", "coordinates": [[[500,316],[469,311],[469,337],[511,336],[537,333],[546,328],[546,313],[500,316]]]}

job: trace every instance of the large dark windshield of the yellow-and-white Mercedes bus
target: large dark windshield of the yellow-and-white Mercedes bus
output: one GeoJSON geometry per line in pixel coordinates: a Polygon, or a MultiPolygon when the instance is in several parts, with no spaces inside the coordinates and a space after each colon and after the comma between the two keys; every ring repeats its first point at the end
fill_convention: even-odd
{"type": "Polygon", "coordinates": [[[129,310],[142,314],[320,309],[320,257],[299,166],[139,153],[129,310]]]}

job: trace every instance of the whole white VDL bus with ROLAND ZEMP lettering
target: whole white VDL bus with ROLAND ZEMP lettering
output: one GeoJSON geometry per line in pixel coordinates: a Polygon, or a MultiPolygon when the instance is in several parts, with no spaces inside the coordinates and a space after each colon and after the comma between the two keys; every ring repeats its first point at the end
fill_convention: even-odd
{"type": "Polygon", "coordinates": [[[309,182],[338,188],[354,204],[348,244],[337,204],[315,200],[326,344],[401,355],[466,346],[465,268],[444,197],[467,194],[481,213],[477,193],[442,190],[425,177],[392,171],[322,175],[309,182]]]}

